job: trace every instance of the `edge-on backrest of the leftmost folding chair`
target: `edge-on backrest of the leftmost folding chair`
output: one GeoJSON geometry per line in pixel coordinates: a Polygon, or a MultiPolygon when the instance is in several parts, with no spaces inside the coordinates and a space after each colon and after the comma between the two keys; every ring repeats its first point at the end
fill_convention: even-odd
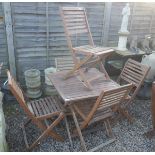
{"type": "Polygon", "coordinates": [[[8,85],[9,85],[9,88],[10,88],[12,94],[15,96],[15,98],[17,99],[18,103],[23,108],[23,110],[28,115],[32,116],[33,114],[28,109],[28,106],[27,106],[25,98],[24,98],[24,94],[23,94],[21,88],[19,87],[19,85],[17,84],[17,82],[15,81],[15,79],[10,74],[10,71],[7,71],[7,76],[8,76],[8,85]]]}

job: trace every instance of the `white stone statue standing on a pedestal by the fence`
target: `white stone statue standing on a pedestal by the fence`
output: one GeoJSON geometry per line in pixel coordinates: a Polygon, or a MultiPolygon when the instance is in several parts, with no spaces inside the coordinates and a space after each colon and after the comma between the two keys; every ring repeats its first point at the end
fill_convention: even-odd
{"type": "Polygon", "coordinates": [[[128,27],[128,20],[130,16],[130,7],[129,3],[126,4],[126,6],[122,10],[122,24],[121,24],[121,32],[128,32],[127,27],[128,27]]]}

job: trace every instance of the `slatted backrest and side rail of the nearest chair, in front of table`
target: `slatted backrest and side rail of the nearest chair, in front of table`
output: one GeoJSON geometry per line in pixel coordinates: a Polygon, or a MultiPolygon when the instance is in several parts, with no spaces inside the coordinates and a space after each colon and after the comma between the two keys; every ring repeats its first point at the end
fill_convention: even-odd
{"type": "Polygon", "coordinates": [[[97,113],[122,103],[129,94],[131,88],[132,84],[127,84],[119,88],[102,91],[91,111],[82,122],[81,129],[85,128],[97,113]]]}

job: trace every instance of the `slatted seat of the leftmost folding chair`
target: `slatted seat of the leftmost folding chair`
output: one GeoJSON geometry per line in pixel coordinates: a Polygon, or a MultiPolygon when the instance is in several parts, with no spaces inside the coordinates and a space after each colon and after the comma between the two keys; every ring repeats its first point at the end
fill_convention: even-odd
{"type": "Polygon", "coordinates": [[[59,114],[64,111],[63,105],[58,96],[45,97],[39,100],[27,103],[29,110],[36,116],[44,116],[48,114],[59,114]]]}

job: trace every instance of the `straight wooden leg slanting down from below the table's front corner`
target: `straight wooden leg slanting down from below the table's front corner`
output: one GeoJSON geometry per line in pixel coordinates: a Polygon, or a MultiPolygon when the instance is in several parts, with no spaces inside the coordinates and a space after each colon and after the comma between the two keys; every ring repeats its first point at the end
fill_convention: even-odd
{"type": "Polygon", "coordinates": [[[76,118],[76,115],[75,115],[75,112],[74,112],[74,109],[73,109],[72,106],[70,106],[70,110],[71,110],[71,113],[72,113],[72,116],[73,116],[73,119],[74,119],[75,126],[77,128],[78,135],[80,137],[82,148],[83,148],[84,151],[87,151],[87,148],[86,148],[86,145],[85,145],[85,141],[83,139],[83,136],[82,136],[82,133],[81,133],[81,129],[80,129],[79,123],[77,121],[77,118],[76,118]]]}

